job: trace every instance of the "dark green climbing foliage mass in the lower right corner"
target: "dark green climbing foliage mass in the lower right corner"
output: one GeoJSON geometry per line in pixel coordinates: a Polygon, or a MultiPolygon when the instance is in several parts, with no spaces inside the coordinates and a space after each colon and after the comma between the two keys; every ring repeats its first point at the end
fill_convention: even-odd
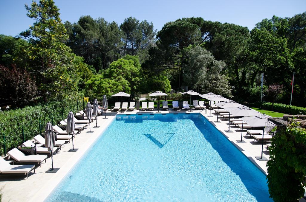
{"type": "Polygon", "coordinates": [[[268,187],[274,201],[297,201],[303,197],[306,176],[306,131],[291,124],[278,126],[272,138],[268,187]]]}

